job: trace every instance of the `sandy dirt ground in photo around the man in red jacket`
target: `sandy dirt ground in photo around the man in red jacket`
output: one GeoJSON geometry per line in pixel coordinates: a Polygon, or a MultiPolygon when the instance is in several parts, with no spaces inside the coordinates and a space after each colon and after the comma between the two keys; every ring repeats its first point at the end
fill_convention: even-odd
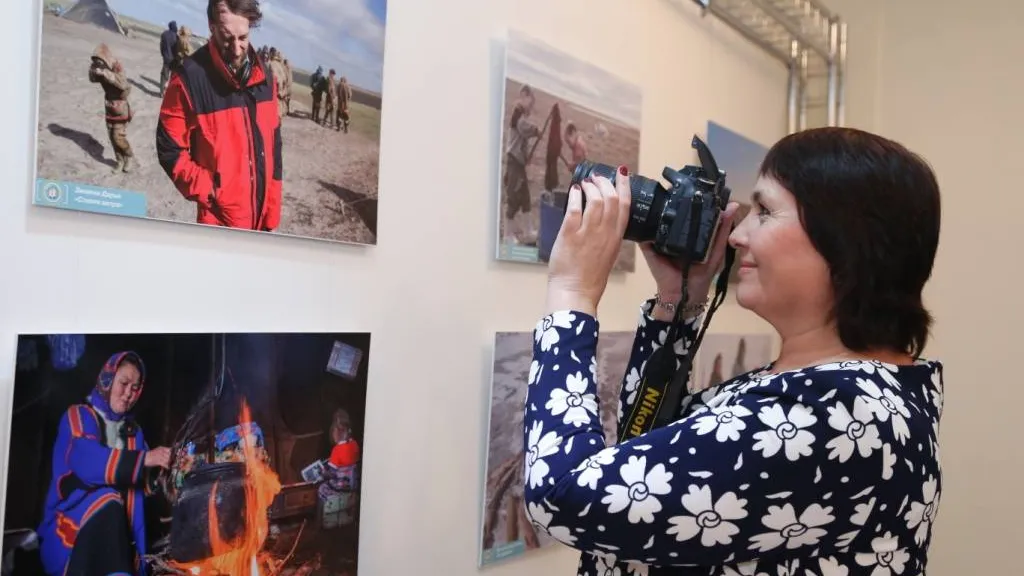
{"type": "MultiPolygon", "coordinates": [[[[157,161],[160,70],[159,40],[151,36],[126,38],[44,14],[37,176],[144,192],[150,217],[194,222],[195,206],[157,161]],[[99,42],[121,59],[133,86],[135,117],[128,138],[139,166],[128,174],[111,172],[103,95],[88,80],[89,58],[99,42]]],[[[380,111],[351,105],[349,132],[338,132],[309,120],[308,87],[295,85],[294,92],[292,114],[282,120],[285,180],[276,232],[376,244],[380,111]]]]}

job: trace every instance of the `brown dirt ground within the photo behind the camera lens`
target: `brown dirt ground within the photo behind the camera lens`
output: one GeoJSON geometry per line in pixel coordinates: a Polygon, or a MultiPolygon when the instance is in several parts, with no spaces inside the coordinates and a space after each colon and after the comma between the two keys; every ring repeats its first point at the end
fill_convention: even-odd
{"type": "MultiPolygon", "coordinates": [[[[515,102],[519,98],[519,88],[521,86],[521,83],[512,79],[507,79],[505,81],[505,111],[504,118],[502,119],[503,141],[501,147],[502,177],[505,175],[505,147],[508,141],[508,126],[512,119],[512,110],[515,107],[515,102]]],[[[569,121],[577,125],[580,132],[584,136],[584,141],[587,143],[588,160],[609,164],[611,166],[626,164],[631,172],[635,172],[637,170],[637,166],[640,163],[640,130],[618,124],[614,120],[597,115],[581,106],[558,98],[557,96],[545,92],[538,86],[530,86],[530,88],[534,90],[534,95],[537,100],[537,104],[534,107],[534,116],[531,120],[538,125],[538,127],[544,127],[544,121],[548,117],[551,107],[554,106],[555,102],[558,102],[558,107],[562,113],[563,131],[565,123],[569,121]],[[598,123],[607,128],[606,134],[600,134],[595,130],[595,126],[597,126],[598,123]]],[[[532,208],[530,215],[535,218],[535,227],[537,228],[540,228],[541,195],[544,193],[545,151],[547,149],[547,141],[548,136],[547,131],[545,130],[545,134],[540,139],[540,145],[538,145],[535,149],[534,156],[530,158],[529,164],[526,166],[526,177],[529,181],[529,193],[531,198],[530,205],[532,208]]],[[[568,145],[563,143],[562,146],[563,154],[566,159],[571,159],[571,153],[569,152],[568,145]]],[[[559,167],[561,170],[558,174],[558,186],[561,190],[558,192],[566,192],[568,190],[569,179],[572,176],[572,173],[560,162],[559,167]]],[[[502,216],[501,224],[499,227],[499,238],[505,237],[505,227],[507,222],[507,218],[505,216],[505,191],[502,190],[500,204],[502,216]]],[[[618,259],[615,260],[614,270],[633,272],[636,268],[636,244],[632,242],[624,242],[622,251],[618,254],[618,259]]]]}

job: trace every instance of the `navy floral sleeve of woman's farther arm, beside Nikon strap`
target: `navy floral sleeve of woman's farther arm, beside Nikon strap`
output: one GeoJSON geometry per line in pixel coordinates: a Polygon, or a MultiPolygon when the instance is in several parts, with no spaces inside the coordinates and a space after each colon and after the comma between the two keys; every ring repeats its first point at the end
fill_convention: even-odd
{"type": "MultiPolygon", "coordinates": [[[[652,316],[654,310],[654,299],[646,300],[640,306],[640,321],[637,324],[636,337],[633,339],[633,351],[630,353],[630,360],[626,365],[626,374],[623,376],[623,386],[618,393],[618,413],[615,416],[615,425],[623,420],[626,414],[632,410],[636,404],[638,388],[640,386],[640,376],[646,368],[647,359],[654,351],[665,345],[669,338],[669,328],[671,322],[655,320],[652,316]]],[[[676,353],[676,368],[682,364],[686,358],[687,351],[696,337],[697,329],[700,327],[700,320],[703,316],[697,316],[684,321],[682,331],[676,335],[673,342],[676,353]]],[[[685,407],[689,399],[683,399],[682,405],[685,407]]]]}

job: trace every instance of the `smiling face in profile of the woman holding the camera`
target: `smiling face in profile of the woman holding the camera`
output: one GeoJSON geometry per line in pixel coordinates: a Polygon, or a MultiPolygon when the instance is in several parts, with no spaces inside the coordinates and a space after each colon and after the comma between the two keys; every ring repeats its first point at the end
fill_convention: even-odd
{"type": "Polygon", "coordinates": [[[760,177],[751,210],[729,236],[736,248],[736,301],[778,322],[823,318],[831,307],[831,277],[800,221],[797,200],[771,178],[760,177]]]}

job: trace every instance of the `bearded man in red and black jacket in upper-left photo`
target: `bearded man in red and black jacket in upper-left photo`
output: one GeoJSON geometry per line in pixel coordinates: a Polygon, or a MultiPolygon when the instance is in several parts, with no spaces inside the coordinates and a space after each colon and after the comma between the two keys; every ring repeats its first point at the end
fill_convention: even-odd
{"type": "Polygon", "coordinates": [[[273,231],[281,222],[276,83],[249,43],[259,0],[209,0],[210,41],[171,75],[157,156],[199,223],[273,231]]]}

